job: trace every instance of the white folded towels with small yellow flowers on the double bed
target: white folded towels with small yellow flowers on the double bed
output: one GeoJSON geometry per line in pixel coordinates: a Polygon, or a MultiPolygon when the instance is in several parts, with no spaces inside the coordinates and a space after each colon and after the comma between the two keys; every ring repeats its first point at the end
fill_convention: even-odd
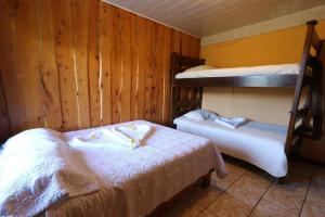
{"type": "Polygon", "coordinates": [[[153,127],[145,124],[117,125],[112,128],[102,128],[93,131],[89,137],[76,137],[69,143],[79,145],[82,143],[122,145],[131,149],[145,144],[145,139],[153,132],[153,127]],[[76,143],[77,142],[77,143],[76,143]]]}

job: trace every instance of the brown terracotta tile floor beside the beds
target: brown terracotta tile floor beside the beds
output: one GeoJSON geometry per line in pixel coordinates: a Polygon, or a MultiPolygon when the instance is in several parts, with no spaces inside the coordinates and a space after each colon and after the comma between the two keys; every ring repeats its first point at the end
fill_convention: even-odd
{"type": "Polygon", "coordinates": [[[285,184],[246,163],[225,158],[229,176],[195,183],[153,216],[325,217],[325,167],[297,162],[285,184]]]}

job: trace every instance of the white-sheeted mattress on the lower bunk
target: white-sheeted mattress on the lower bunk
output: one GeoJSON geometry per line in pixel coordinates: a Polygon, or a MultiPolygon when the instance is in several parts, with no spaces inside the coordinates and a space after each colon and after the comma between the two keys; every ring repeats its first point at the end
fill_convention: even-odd
{"type": "Polygon", "coordinates": [[[285,154],[287,127],[250,122],[230,129],[213,120],[174,119],[177,129],[210,139],[221,153],[253,164],[274,177],[287,174],[285,154]]]}

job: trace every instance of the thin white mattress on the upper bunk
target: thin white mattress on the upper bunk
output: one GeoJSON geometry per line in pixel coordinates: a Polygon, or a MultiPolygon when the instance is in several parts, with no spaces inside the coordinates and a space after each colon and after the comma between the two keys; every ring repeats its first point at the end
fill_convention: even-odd
{"type": "Polygon", "coordinates": [[[176,78],[182,79],[182,78],[206,78],[206,77],[298,75],[299,68],[300,68],[299,64],[216,68],[216,69],[179,73],[176,75],[176,78]]]}

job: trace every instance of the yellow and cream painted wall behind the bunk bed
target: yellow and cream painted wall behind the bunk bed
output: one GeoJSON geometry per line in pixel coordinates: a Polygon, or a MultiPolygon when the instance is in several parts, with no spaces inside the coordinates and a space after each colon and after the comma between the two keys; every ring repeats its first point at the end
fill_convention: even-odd
{"type": "MultiPolygon", "coordinates": [[[[200,55],[207,64],[216,67],[298,63],[306,29],[306,25],[301,25],[209,44],[202,47],[200,55]]],[[[320,38],[325,38],[325,21],[318,23],[316,30],[320,38]]],[[[239,115],[259,122],[287,125],[292,97],[294,90],[285,88],[205,88],[203,107],[225,116],[239,115]]],[[[325,153],[323,146],[322,152],[325,153]]]]}

